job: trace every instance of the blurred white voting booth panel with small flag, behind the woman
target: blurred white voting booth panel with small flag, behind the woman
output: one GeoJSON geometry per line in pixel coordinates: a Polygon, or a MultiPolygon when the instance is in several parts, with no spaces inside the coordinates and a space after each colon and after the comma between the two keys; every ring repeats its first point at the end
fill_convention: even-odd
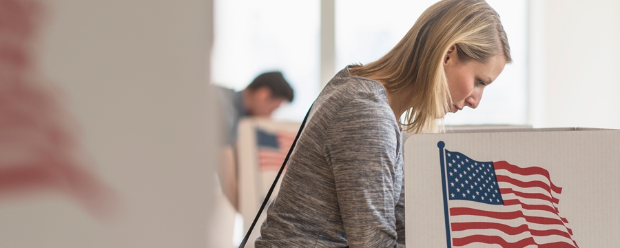
{"type": "MultiPolygon", "coordinates": [[[[238,198],[239,211],[243,216],[244,235],[265,200],[300,125],[301,123],[260,118],[247,118],[239,123],[238,198]]],[[[280,176],[280,181],[282,176],[280,176]]],[[[278,194],[280,181],[273,190],[270,200],[278,194]]],[[[265,211],[258,219],[245,247],[254,247],[254,240],[260,236],[260,225],[263,220],[265,220],[265,211]]]]}

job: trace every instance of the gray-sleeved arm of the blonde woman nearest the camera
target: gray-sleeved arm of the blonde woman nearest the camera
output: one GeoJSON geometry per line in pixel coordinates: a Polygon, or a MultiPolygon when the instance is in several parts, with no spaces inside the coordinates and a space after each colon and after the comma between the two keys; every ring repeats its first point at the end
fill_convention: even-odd
{"type": "Polygon", "coordinates": [[[377,99],[353,100],[330,123],[331,163],[349,247],[401,247],[395,206],[402,189],[399,131],[393,112],[377,99]]]}

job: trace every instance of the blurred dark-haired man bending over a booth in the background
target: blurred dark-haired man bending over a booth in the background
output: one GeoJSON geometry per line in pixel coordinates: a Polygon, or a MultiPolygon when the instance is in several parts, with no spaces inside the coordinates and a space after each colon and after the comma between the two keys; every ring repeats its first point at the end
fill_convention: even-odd
{"type": "Polygon", "coordinates": [[[269,117],[282,102],[293,101],[293,88],[282,72],[265,72],[252,81],[245,90],[235,92],[217,87],[220,93],[221,116],[225,134],[221,146],[222,161],[218,169],[220,185],[231,204],[238,208],[237,165],[235,146],[238,123],[245,117],[269,117]]]}

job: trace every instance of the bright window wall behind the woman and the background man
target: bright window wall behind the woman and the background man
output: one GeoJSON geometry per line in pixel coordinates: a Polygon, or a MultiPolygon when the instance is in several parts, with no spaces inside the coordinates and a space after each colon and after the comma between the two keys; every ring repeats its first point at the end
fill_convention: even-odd
{"type": "MultiPolygon", "coordinates": [[[[273,118],[301,121],[335,72],[380,58],[433,3],[215,0],[211,81],[242,90],[256,74],[282,70],[298,98],[273,118]]],[[[619,1],[488,3],[514,62],[476,110],[449,114],[446,124],[620,127],[619,1]]]]}

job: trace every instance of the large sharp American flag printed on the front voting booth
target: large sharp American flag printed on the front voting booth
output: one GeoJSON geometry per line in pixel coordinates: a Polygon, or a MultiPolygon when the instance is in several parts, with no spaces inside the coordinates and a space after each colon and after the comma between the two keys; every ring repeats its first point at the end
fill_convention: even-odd
{"type": "Polygon", "coordinates": [[[447,149],[444,158],[448,247],[578,247],[557,208],[562,189],[546,169],[447,149]]]}

